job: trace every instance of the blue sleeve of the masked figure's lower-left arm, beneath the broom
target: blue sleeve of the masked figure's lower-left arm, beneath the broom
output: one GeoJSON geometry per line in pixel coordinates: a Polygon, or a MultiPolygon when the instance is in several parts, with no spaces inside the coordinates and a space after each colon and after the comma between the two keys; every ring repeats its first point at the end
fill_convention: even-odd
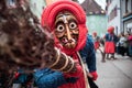
{"type": "Polygon", "coordinates": [[[57,88],[58,86],[66,84],[61,72],[54,72],[50,68],[36,70],[34,73],[34,80],[38,88],[57,88]]]}

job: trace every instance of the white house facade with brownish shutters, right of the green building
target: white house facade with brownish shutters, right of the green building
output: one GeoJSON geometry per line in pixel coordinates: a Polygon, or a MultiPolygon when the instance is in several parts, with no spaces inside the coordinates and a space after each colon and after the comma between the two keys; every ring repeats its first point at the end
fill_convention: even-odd
{"type": "Polygon", "coordinates": [[[114,26],[114,33],[118,35],[121,33],[121,6],[120,0],[107,0],[107,16],[108,25],[114,26]]]}

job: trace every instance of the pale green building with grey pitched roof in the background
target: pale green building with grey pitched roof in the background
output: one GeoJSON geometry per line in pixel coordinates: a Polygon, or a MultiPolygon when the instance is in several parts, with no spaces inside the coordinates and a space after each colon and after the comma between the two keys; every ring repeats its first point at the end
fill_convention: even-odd
{"type": "Polygon", "coordinates": [[[87,14],[88,32],[97,32],[98,35],[103,36],[107,32],[107,16],[106,11],[95,0],[85,0],[81,7],[87,14]]]}

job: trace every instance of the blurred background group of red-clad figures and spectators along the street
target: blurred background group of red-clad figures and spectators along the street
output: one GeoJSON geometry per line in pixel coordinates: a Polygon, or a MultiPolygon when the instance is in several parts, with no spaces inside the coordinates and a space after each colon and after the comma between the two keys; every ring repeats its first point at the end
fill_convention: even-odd
{"type": "Polygon", "coordinates": [[[125,34],[122,32],[119,35],[114,34],[113,26],[109,26],[107,31],[103,37],[99,37],[97,32],[92,33],[95,50],[100,51],[102,55],[101,62],[117,59],[114,54],[132,57],[132,31],[130,30],[125,34]]]}

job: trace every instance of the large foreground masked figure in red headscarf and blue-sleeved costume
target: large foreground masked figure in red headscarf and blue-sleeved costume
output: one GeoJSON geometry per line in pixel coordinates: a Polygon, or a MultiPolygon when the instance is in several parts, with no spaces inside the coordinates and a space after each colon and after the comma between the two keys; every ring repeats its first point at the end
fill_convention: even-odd
{"type": "Polygon", "coordinates": [[[41,70],[41,75],[36,72],[36,84],[40,88],[87,88],[86,85],[88,84],[85,82],[86,78],[80,65],[80,56],[86,59],[94,80],[97,79],[98,75],[96,73],[94,43],[87,35],[86,13],[81,7],[69,0],[56,1],[45,8],[42,14],[42,25],[53,33],[55,47],[59,48],[64,56],[66,54],[66,56],[69,56],[68,58],[74,61],[75,72],[48,69],[51,76],[43,70],[41,70]],[[69,38],[72,38],[70,42],[69,38]],[[56,75],[54,75],[55,73],[56,75]],[[54,81],[46,81],[50,80],[48,78],[54,81]],[[46,86],[43,87],[44,85],[46,86]],[[48,85],[52,85],[52,87],[48,85]]]}

